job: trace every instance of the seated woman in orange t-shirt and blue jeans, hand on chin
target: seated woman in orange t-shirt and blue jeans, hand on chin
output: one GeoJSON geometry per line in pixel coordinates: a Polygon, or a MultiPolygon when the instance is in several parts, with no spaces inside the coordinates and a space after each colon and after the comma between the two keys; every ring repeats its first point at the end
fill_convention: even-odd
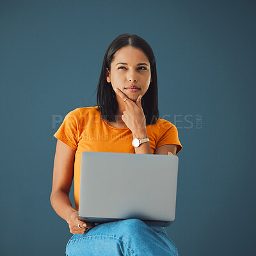
{"type": "Polygon", "coordinates": [[[137,35],[122,34],[104,56],[97,106],[70,111],[58,131],[51,204],[74,234],[66,255],[178,255],[163,227],[138,219],[84,223],[78,219],[81,152],[177,154],[177,128],[160,119],[154,53],[137,35]],[[141,96],[141,97],[140,97],[141,96]],[[145,139],[134,147],[134,139],[145,139]],[[68,198],[74,175],[75,207],[68,198]]]}

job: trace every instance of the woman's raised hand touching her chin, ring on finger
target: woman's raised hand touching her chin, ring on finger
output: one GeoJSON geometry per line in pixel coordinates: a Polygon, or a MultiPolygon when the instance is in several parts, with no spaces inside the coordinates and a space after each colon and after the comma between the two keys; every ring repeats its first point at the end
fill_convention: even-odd
{"type": "Polygon", "coordinates": [[[118,96],[125,100],[125,111],[121,116],[125,125],[132,131],[143,131],[146,130],[146,118],[141,106],[141,98],[138,96],[136,102],[133,102],[125,93],[118,88],[115,89],[118,96]]]}

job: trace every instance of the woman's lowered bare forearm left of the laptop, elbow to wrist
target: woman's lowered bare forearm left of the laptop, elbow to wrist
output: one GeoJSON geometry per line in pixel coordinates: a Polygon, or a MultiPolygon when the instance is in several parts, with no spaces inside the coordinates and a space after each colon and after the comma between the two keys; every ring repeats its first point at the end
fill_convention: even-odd
{"type": "Polygon", "coordinates": [[[50,200],[54,211],[65,221],[67,221],[67,218],[72,212],[76,211],[64,191],[58,190],[53,192],[50,200]]]}

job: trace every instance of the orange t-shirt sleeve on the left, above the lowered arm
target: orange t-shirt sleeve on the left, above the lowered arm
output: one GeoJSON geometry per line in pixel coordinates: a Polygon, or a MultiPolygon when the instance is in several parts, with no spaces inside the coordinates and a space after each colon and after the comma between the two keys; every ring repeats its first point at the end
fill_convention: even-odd
{"type": "Polygon", "coordinates": [[[63,141],[70,148],[77,150],[77,132],[79,129],[79,108],[70,111],[64,118],[54,137],[63,141]]]}

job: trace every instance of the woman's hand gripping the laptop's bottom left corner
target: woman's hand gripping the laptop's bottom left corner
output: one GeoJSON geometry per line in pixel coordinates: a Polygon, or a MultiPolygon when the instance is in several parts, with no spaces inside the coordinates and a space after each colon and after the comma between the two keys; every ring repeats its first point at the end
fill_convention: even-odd
{"type": "Polygon", "coordinates": [[[70,233],[72,234],[84,234],[86,228],[95,227],[95,223],[85,223],[78,218],[78,211],[74,210],[67,218],[67,223],[69,226],[70,233]],[[79,226],[80,225],[80,228],[79,226]]]}

